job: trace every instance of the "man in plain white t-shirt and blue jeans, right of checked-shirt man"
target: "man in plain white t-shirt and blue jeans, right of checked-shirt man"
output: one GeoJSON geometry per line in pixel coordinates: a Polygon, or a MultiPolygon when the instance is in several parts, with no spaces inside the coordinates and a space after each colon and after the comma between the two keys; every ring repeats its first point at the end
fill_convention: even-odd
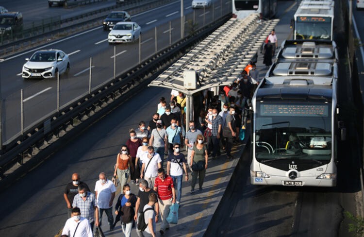
{"type": "Polygon", "coordinates": [[[96,181],[95,185],[95,196],[99,208],[99,222],[101,224],[102,213],[105,211],[110,230],[114,229],[113,201],[115,193],[116,187],[114,183],[106,178],[106,174],[104,172],[101,172],[99,174],[99,180],[96,181]]]}

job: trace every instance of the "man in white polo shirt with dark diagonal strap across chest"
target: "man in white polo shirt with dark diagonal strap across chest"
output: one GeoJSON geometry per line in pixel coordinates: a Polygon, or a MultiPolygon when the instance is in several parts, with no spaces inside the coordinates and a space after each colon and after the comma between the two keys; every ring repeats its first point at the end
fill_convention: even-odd
{"type": "Polygon", "coordinates": [[[158,169],[162,168],[161,156],[154,152],[152,146],[148,147],[148,154],[143,154],[142,171],[140,178],[148,181],[149,186],[154,186],[155,178],[158,176],[158,169]]]}

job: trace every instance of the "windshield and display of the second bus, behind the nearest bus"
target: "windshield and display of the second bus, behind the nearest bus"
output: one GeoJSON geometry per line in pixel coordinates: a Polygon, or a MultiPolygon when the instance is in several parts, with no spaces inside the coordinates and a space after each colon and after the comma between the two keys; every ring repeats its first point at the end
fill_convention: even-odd
{"type": "Polygon", "coordinates": [[[330,17],[297,17],[296,39],[331,39],[330,17]]]}

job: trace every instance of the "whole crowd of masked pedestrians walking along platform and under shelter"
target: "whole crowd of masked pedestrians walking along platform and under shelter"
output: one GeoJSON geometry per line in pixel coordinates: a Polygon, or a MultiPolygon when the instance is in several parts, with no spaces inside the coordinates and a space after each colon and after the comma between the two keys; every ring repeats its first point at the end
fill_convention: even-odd
{"type": "Polygon", "coordinates": [[[211,159],[221,159],[223,151],[227,158],[234,158],[232,146],[241,140],[247,106],[259,83],[259,71],[250,62],[232,85],[219,88],[218,95],[210,90],[201,94],[197,103],[203,106],[196,121],[185,117],[186,97],[182,92],[172,90],[170,102],[160,98],[150,121],[140,121],[129,131],[130,137],[113,164],[114,182],[101,172],[92,193],[78,173],[72,174],[64,191],[69,219],[62,235],[92,237],[104,212],[109,230],[121,223],[125,237],[131,236],[132,228],[136,228],[138,237],[154,237],[159,218],[159,232],[164,235],[169,229],[166,219],[171,205],[182,205],[183,176],[187,182],[191,172],[193,195],[197,182],[198,191],[203,190],[211,159]],[[184,147],[186,156],[182,153],[184,147]],[[138,193],[132,193],[132,185],[139,188],[138,193]],[[117,186],[121,193],[113,212],[117,186]]]}

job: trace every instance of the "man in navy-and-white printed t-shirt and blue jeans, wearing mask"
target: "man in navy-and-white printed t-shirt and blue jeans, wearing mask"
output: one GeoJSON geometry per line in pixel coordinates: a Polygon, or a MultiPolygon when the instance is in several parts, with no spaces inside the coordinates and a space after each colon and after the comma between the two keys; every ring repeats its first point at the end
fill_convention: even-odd
{"type": "Polygon", "coordinates": [[[180,152],[180,144],[173,144],[174,152],[169,154],[167,162],[167,175],[169,175],[173,180],[173,185],[177,188],[177,203],[181,203],[182,196],[182,178],[183,171],[185,173],[184,180],[188,181],[188,173],[186,169],[186,160],[184,154],[180,152]]]}

